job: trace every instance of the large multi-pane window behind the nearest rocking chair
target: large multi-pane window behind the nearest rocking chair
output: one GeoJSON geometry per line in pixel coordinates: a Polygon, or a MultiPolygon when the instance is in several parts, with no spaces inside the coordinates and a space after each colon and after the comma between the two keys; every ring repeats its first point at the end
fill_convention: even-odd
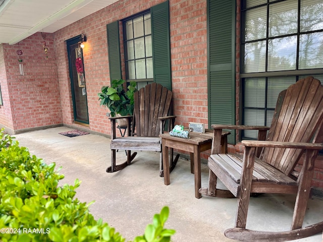
{"type": "Polygon", "coordinates": [[[323,81],[323,0],[242,2],[242,123],[270,126],[282,90],[309,75],[323,81]]]}

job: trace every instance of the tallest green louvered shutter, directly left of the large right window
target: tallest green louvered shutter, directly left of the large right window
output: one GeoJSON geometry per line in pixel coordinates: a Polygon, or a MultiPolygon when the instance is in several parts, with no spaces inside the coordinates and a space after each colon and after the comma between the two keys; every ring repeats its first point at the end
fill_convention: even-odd
{"type": "Polygon", "coordinates": [[[209,127],[235,124],[235,2],[207,0],[209,127]]]}

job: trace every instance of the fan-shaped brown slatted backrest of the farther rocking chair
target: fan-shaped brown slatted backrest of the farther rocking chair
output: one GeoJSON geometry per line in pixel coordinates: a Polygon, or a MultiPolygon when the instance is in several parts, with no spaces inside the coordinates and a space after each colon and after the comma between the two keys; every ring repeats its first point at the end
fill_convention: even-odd
{"type": "Polygon", "coordinates": [[[173,93],[166,87],[151,83],[134,94],[134,122],[137,136],[159,135],[158,117],[170,113],[173,93]]]}

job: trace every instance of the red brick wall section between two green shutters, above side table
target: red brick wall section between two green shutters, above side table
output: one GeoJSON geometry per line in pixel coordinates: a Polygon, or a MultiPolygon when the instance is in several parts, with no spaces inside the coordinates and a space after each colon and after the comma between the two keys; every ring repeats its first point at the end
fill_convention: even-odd
{"type": "Polygon", "coordinates": [[[206,1],[170,1],[172,87],[177,122],[208,123],[206,1]]]}

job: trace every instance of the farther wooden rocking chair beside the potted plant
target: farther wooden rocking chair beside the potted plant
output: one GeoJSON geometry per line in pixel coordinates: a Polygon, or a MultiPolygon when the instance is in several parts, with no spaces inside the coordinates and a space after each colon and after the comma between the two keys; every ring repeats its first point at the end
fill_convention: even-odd
{"type": "MultiPolygon", "coordinates": [[[[161,141],[159,134],[164,133],[165,124],[168,123],[168,130],[174,127],[176,116],[169,116],[172,113],[173,92],[160,84],[152,83],[141,88],[134,94],[134,114],[123,117],[110,117],[111,120],[111,166],[106,172],[115,172],[131,164],[137,152],[131,154],[131,150],[157,151],[159,156],[159,175],[164,176],[163,161],[161,153],[161,141]],[[127,118],[127,137],[116,136],[116,120],[127,118]],[[166,122],[169,120],[169,122],[166,122]],[[126,150],[127,161],[116,165],[116,150],[126,150]]],[[[174,160],[171,150],[171,166],[175,167],[179,155],[174,160]]]]}

